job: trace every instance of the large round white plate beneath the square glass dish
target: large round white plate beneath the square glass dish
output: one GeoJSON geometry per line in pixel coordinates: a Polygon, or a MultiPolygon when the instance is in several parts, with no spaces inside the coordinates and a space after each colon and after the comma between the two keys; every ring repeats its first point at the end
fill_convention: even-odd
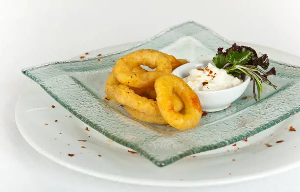
{"type": "MultiPolygon", "coordinates": [[[[240,44],[266,52],[276,60],[300,63],[300,58],[282,51],[240,44]]],[[[97,56],[132,45],[102,48],[83,55],[97,56]]],[[[174,187],[220,185],[295,168],[300,162],[300,114],[248,138],[247,142],[206,151],[159,168],[96,130],[90,127],[86,130],[86,124],[73,117],[36,83],[31,82],[20,96],[15,112],[20,132],[38,152],[76,171],[124,183],[174,187]],[[297,131],[289,131],[289,126],[297,131]],[[276,144],[280,140],[284,142],[276,144]]]]}

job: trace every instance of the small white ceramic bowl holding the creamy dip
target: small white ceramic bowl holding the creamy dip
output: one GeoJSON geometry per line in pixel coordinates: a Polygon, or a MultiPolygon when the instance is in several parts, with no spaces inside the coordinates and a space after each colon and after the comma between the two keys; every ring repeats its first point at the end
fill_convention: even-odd
{"type": "MultiPolygon", "coordinates": [[[[211,60],[200,60],[190,62],[176,68],[172,74],[184,78],[189,75],[189,71],[195,68],[204,68],[211,60]]],[[[250,77],[246,75],[244,82],[235,87],[218,91],[195,91],[198,95],[202,111],[213,112],[227,108],[233,101],[238,99],[246,90],[250,82],[250,77]]]]}

